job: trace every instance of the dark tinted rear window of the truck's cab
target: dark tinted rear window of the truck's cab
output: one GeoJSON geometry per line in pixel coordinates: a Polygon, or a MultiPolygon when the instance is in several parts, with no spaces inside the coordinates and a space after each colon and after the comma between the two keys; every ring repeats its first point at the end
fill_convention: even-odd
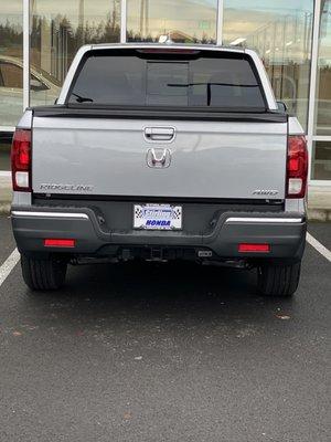
{"type": "Polygon", "coordinates": [[[96,50],[82,60],[68,104],[265,110],[244,53],[96,50]]]}

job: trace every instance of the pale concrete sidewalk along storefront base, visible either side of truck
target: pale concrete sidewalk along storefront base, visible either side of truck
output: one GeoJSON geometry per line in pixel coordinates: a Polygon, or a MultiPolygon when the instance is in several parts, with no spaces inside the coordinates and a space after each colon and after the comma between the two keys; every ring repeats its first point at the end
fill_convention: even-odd
{"type": "MultiPolygon", "coordinates": [[[[9,213],[11,178],[0,175],[0,213],[9,213]]],[[[310,186],[308,192],[308,218],[311,221],[331,221],[331,186],[310,186]]]]}

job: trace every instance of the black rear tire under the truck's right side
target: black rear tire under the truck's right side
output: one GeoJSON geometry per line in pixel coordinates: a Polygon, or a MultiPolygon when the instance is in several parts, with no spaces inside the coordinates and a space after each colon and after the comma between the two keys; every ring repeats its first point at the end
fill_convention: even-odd
{"type": "Polygon", "coordinates": [[[257,269],[258,292],[265,296],[291,296],[298,288],[301,262],[291,265],[264,264],[257,269]]]}

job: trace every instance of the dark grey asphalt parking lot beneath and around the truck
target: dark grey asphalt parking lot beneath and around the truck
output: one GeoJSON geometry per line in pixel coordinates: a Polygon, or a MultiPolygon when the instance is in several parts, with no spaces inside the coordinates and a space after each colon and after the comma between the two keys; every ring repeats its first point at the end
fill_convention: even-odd
{"type": "MultiPolygon", "coordinates": [[[[331,223],[309,232],[331,249],[331,223]]],[[[0,218],[0,265],[14,242],[0,218]]],[[[331,439],[331,263],[307,245],[292,299],[195,265],[71,267],[0,287],[0,441],[331,439]]]]}

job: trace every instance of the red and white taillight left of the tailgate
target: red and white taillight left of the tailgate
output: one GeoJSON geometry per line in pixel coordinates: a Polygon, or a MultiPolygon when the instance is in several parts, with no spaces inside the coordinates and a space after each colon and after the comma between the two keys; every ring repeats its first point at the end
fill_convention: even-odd
{"type": "Polygon", "coordinates": [[[12,188],[31,190],[31,130],[17,129],[11,146],[12,188]]]}

